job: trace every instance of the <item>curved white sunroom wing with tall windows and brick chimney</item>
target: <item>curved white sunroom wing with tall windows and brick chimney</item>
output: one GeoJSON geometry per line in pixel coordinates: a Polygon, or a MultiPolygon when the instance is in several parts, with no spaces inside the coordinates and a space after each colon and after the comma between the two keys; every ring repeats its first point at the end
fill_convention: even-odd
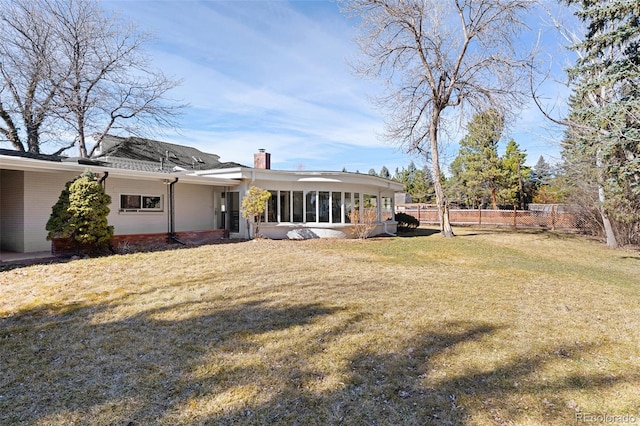
{"type": "MultiPolygon", "coordinates": [[[[260,152],[256,156],[265,155],[260,152]]],[[[268,154],[266,154],[268,155],[268,154]]],[[[246,191],[257,186],[271,193],[261,218],[260,234],[272,239],[354,238],[366,224],[369,235],[395,234],[393,198],[402,184],[376,176],[349,172],[280,171],[263,168],[207,170],[200,176],[240,179],[237,193],[227,193],[229,206],[239,206],[246,191]],[[236,201],[232,201],[236,200],[236,201]]],[[[237,216],[233,212],[232,216],[237,216]]],[[[232,236],[253,236],[253,225],[242,218],[230,229],[232,236]]]]}

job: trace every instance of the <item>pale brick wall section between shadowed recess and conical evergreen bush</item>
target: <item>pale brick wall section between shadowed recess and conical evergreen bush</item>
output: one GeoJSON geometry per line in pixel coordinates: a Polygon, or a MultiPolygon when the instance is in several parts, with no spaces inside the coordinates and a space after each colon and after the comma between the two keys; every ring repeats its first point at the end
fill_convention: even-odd
{"type": "Polygon", "coordinates": [[[48,251],[45,226],[51,207],[58,201],[64,185],[77,176],[73,172],[24,172],[24,249],[25,253],[48,251]]]}

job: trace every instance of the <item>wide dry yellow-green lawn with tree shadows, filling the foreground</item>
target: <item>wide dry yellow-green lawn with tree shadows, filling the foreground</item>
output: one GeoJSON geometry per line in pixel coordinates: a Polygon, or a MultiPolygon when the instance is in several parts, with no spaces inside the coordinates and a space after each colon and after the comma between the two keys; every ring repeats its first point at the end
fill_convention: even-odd
{"type": "Polygon", "coordinates": [[[0,424],[640,422],[640,254],[259,240],[0,272],[0,424]]]}

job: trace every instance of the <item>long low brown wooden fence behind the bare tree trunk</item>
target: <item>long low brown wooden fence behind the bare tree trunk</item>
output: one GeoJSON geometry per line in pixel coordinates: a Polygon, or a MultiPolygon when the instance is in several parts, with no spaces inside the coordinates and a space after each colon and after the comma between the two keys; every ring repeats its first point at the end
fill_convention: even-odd
{"type": "MultiPolygon", "coordinates": [[[[438,210],[431,204],[398,204],[396,213],[409,214],[425,224],[438,224],[438,210]]],[[[538,210],[449,209],[452,225],[513,226],[575,230],[578,217],[563,205],[546,205],[538,210]]]]}

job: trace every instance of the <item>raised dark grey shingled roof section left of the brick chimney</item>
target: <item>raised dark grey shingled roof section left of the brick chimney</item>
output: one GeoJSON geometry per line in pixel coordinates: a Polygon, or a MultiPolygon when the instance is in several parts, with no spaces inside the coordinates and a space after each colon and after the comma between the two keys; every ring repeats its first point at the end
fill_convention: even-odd
{"type": "Polygon", "coordinates": [[[245,167],[234,162],[221,162],[215,154],[190,146],[152,139],[107,135],[101,151],[94,158],[108,161],[112,167],[141,171],[189,171],[245,167]]]}

